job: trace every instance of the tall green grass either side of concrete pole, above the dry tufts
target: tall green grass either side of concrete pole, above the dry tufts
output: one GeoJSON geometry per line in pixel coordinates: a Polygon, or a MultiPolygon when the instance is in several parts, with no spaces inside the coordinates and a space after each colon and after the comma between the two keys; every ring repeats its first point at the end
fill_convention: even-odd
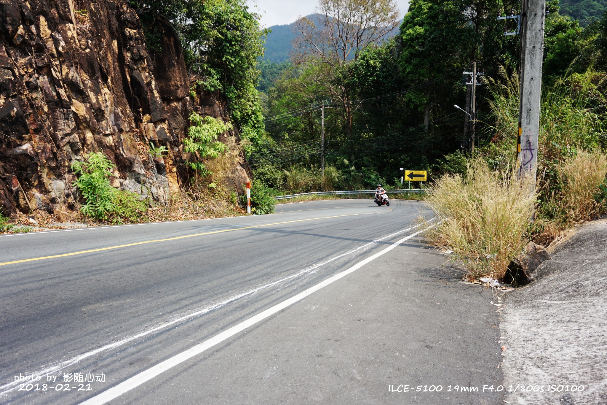
{"type": "MultiPolygon", "coordinates": [[[[500,144],[500,156],[491,156],[497,162],[512,165],[518,132],[519,78],[516,72],[508,74],[506,67],[498,70],[498,80],[489,78],[492,125],[487,135],[492,147],[500,144]],[[504,148],[508,152],[504,153],[504,148]]],[[[571,155],[571,149],[595,150],[607,146],[603,133],[607,99],[602,87],[605,73],[588,70],[555,81],[544,87],[541,95],[538,162],[541,165],[560,162],[571,155]]],[[[491,151],[486,151],[491,152],[491,151]]],[[[495,152],[495,151],[494,151],[495,152]]]]}

